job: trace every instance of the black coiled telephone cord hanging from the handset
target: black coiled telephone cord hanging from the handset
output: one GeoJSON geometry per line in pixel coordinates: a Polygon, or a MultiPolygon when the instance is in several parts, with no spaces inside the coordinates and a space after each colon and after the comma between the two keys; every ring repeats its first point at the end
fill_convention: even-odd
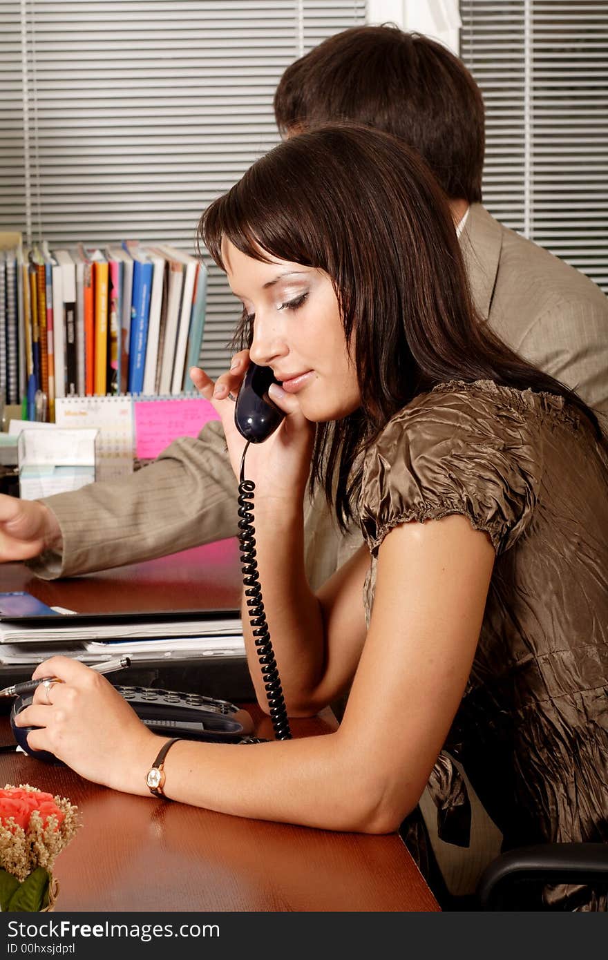
{"type": "Polygon", "coordinates": [[[253,480],[245,479],[245,454],[248,449],[249,443],[243,450],[238,485],[238,516],[240,517],[238,539],[241,547],[243,586],[275,737],[277,740],[290,740],[291,731],[287,718],[287,708],[280,685],[279,667],[277,666],[277,660],[275,660],[268,624],[266,623],[257,561],[255,560],[255,526],[253,524],[255,483],[253,480]]]}

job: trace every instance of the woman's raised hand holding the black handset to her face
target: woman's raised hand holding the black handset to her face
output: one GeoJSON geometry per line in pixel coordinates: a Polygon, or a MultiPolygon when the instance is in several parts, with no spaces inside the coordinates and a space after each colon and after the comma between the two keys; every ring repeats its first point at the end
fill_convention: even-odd
{"type": "MultiPolygon", "coordinates": [[[[193,367],[190,370],[192,382],[201,395],[211,401],[222,420],[231,466],[237,480],[240,478],[241,457],[246,441],[234,424],[234,398],[238,395],[250,363],[249,350],[241,350],[232,358],[230,371],[222,373],[215,383],[200,368],[193,367]]],[[[248,480],[255,482],[257,496],[263,493],[266,502],[294,502],[304,497],[314,427],[304,418],[295,396],[283,393],[276,384],[270,386],[269,396],[285,417],[267,440],[250,445],[245,475],[248,480]]]]}

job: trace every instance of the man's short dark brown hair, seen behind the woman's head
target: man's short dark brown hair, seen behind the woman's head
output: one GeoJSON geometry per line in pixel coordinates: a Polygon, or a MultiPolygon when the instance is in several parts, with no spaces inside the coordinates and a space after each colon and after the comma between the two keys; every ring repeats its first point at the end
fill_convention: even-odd
{"type": "Polygon", "coordinates": [[[481,200],[481,91],[447,47],[397,27],[329,36],[283,73],[280,132],[351,120],[393,133],[425,159],[452,200],[481,200]]]}

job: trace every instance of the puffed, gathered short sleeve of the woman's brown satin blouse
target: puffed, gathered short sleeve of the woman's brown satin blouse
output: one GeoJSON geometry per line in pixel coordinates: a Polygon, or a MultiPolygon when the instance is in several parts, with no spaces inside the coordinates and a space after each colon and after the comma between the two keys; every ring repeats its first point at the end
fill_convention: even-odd
{"type": "Polygon", "coordinates": [[[468,516],[497,552],[518,540],[542,475],[538,419],[508,388],[451,384],[416,397],[368,450],[359,500],[374,555],[388,531],[410,520],[468,516]]]}

